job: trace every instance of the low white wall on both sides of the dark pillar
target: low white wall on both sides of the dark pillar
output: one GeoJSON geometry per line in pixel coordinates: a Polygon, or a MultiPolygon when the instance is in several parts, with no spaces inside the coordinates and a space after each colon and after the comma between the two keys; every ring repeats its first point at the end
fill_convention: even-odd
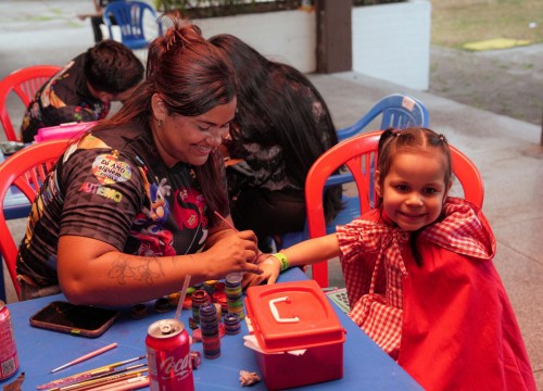
{"type": "MultiPolygon", "coordinates": [[[[316,71],[316,14],[279,11],[193,20],[204,37],[232,34],[267,58],[301,72],[316,71]]],[[[353,71],[400,86],[428,90],[431,3],[355,7],[352,11],[353,71]]]]}

